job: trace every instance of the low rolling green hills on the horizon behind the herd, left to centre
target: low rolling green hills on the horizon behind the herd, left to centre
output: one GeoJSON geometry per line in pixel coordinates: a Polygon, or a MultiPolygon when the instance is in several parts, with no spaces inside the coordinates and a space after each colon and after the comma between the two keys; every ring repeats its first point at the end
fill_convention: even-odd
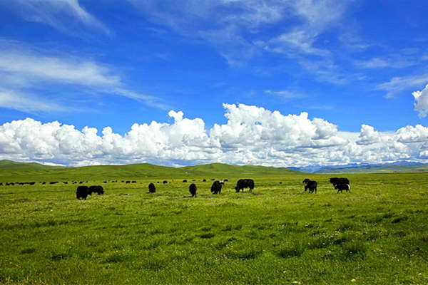
{"type": "Polygon", "coordinates": [[[229,177],[285,176],[298,173],[300,172],[289,170],[285,167],[226,165],[222,163],[185,167],[166,167],[148,163],[56,167],[33,162],[0,161],[0,181],[12,181],[17,177],[25,177],[26,180],[113,180],[120,177],[128,177],[129,179],[143,177],[189,179],[191,177],[201,177],[207,180],[213,178],[221,180],[229,177]]]}

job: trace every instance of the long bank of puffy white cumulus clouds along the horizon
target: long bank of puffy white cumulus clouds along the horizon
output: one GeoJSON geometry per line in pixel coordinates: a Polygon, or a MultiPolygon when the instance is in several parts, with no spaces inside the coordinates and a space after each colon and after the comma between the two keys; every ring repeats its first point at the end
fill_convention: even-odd
{"type": "Polygon", "coordinates": [[[282,115],[245,104],[223,108],[227,123],[210,130],[202,118],[170,110],[173,123],[134,123],[124,135],[111,127],[100,134],[57,121],[14,120],[0,125],[0,159],[71,166],[224,162],[277,167],[428,161],[428,128],[422,125],[384,133],[363,124],[360,133],[345,133],[307,113],[282,115]]]}

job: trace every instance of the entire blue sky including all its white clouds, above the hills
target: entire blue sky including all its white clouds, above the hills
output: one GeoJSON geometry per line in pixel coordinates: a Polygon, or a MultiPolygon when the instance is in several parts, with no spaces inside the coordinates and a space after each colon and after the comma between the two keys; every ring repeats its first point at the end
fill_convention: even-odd
{"type": "Polygon", "coordinates": [[[0,158],[426,162],[427,1],[99,3],[0,0],[0,158]],[[145,123],[159,147],[131,138],[145,123]],[[96,152],[64,144],[64,128],[96,152]]]}

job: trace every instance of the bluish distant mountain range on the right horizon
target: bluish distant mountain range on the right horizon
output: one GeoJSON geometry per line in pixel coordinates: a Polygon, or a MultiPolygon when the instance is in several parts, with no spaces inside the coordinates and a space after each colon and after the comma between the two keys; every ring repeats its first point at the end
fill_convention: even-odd
{"type": "Polygon", "coordinates": [[[428,172],[428,165],[419,162],[393,162],[385,164],[349,164],[332,166],[290,167],[292,170],[312,173],[386,173],[386,172],[428,172]]]}

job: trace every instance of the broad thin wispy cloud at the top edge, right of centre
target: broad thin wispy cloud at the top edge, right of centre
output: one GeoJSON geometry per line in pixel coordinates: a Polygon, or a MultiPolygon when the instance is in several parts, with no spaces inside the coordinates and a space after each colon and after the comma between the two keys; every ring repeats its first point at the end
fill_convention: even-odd
{"type": "Polygon", "coordinates": [[[169,6],[154,0],[128,1],[149,21],[215,46],[230,66],[243,66],[263,49],[292,57],[330,56],[315,42],[327,28],[340,23],[349,2],[184,0],[169,6]],[[284,29],[266,38],[263,30],[281,22],[287,23],[284,29]]]}

